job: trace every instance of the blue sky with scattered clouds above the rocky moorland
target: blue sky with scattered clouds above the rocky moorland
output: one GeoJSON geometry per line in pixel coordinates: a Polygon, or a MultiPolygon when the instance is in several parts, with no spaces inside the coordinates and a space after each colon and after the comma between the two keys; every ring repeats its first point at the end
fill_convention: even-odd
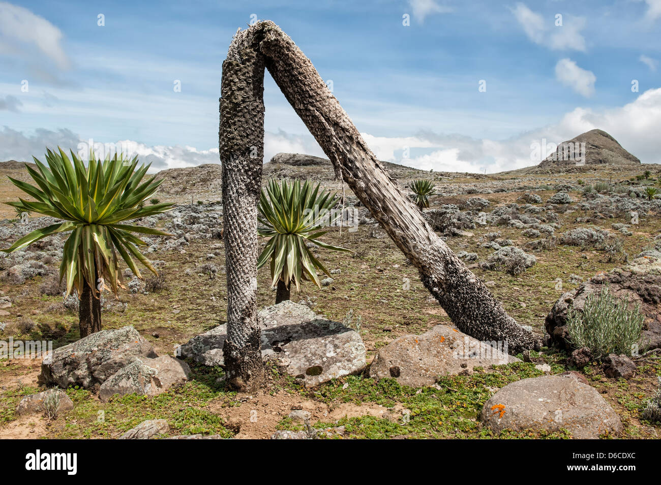
{"type": "MultiPolygon", "coordinates": [[[[497,172],[600,127],[661,162],[661,0],[0,1],[0,159],[91,138],[155,168],[217,162],[221,63],[255,16],[332,81],[379,158],[497,172]]],[[[322,154],[268,74],[264,98],[267,160],[322,154]]]]}

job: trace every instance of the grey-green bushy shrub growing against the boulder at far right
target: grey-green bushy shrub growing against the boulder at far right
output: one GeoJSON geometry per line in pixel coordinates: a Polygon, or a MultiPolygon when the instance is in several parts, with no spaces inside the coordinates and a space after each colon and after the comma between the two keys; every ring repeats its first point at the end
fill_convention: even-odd
{"type": "Polygon", "coordinates": [[[629,310],[629,301],[613,297],[604,285],[599,295],[586,298],[583,311],[573,307],[567,315],[570,342],[576,347],[588,347],[596,357],[607,354],[627,354],[641,338],[645,317],[637,305],[629,310]]]}

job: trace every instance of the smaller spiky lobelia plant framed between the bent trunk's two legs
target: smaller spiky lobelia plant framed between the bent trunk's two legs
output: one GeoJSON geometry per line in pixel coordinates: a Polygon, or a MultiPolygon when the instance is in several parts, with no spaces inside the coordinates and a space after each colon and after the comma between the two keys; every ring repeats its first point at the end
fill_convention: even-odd
{"type": "Polygon", "coordinates": [[[270,240],[257,260],[257,269],[270,263],[271,286],[278,288],[276,303],[289,300],[292,282],[297,290],[300,290],[301,280],[310,280],[321,288],[317,269],[331,276],[307,247],[308,243],[334,251],[349,251],[319,240],[328,232],[323,228],[340,215],[331,214],[336,202],[334,193],[320,190],[319,183],[313,187],[307,180],[301,185],[299,180],[282,180],[278,184],[270,179],[262,189],[258,220],[264,227],[258,229],[258,234],[270,240]]]}

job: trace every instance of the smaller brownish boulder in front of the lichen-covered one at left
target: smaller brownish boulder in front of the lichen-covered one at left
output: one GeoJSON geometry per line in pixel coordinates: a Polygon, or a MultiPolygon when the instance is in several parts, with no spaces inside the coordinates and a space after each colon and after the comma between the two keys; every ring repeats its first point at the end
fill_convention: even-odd
{"type": "Polygon", "coordinates": [[[189,375],[188,364],[172,356],[140,357],[108,377],[98,389],[98,397],[101,401],[108,401],[115,394],[152,397],[176,383],[186,382],[189,375]]]}

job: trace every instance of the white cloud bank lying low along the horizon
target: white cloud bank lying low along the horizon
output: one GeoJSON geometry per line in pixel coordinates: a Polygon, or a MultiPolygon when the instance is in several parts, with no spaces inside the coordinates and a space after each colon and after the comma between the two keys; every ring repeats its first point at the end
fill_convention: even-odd
{"type": "MultiPolygon", "coordinates": [[[[593,111],[575,108],[553,125],[533,129],[509,139],[475,139],[463,135],[420,132],[412,137],[377,137],[362,133],[369,148],[379,160],[396,162],[423,170],[447,172],[494,173],[536,165],[532,143],[559,144],[580,133],[600,128],[610,133],[625,150],[643,163],[661,163],[658,149],[658,127],[661,126],[661,88],[643,92],[633,102],[611,110],[593,111]],[[402,158],[403,148],[410,148],[410,158],[402,158]],[[420,153],[416,155],[416,152],[420,153]]],[[[73,148],[81,140],[75,133],[61,129],[36,130],[32,135],[5,127],[0,131],[0,160],[42,159],[46,146],[73,148]]],[[[123,141],[130,152],[143,162],[152,162],[153,170],[218,163],[218,148],[198,150],[192,146],[148,146],[136,141],[123,141]]],[[[264,161],[278,152],[324,156],[311,135],[292,135],[279,131],[264,137],[264,161]]],[[[548,151],[547,151],[548,153],[548,151]]],[[[546,154],[547,154],[546,153],[546,154]]],[[[544,154],[545,155],[545,154],[544,154]]]]}

